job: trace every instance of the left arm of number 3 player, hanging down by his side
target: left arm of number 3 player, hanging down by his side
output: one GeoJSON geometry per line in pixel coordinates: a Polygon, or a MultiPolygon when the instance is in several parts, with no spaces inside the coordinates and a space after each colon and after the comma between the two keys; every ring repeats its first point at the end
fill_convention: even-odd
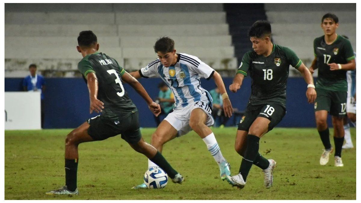
{"type": "Polygon", "coordinates": [[[98,97],[98,79],[95,73],[90,72],[87,74],[87,86],[89,90],[90,108],[89,112],[96,111],[97,113],[102,112],[104,109],[104,103],[101,102],[98,97]]]}

